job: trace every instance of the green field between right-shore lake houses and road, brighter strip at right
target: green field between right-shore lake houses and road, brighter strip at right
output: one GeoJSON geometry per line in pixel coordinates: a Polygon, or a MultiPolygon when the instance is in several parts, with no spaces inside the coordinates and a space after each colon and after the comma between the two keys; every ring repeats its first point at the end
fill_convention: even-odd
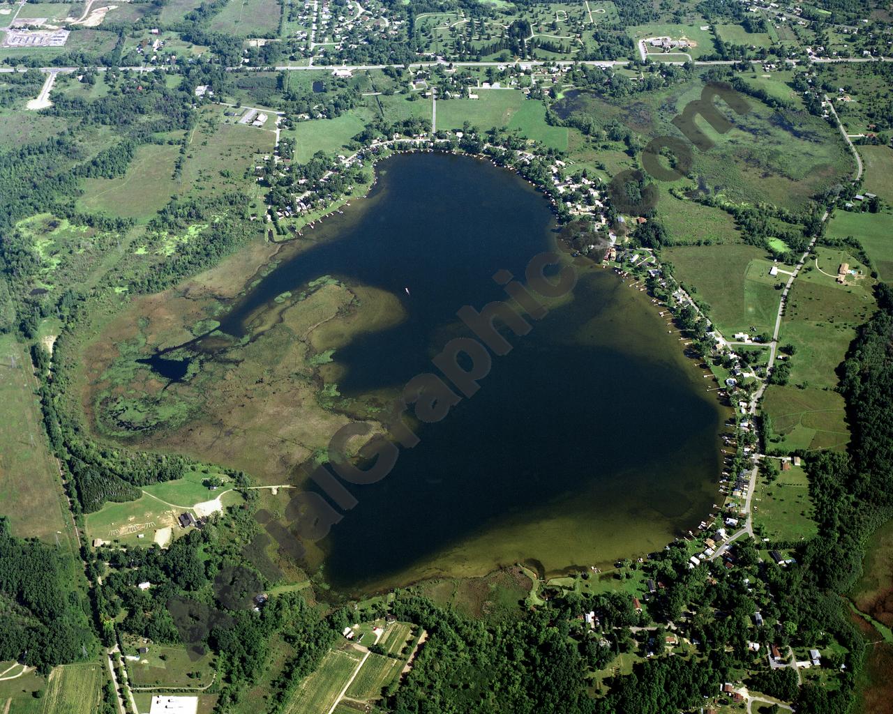
{"type": "MultiPolygon", "coordinates": [[[[710,318],[723,335],[772,332],[780,303],[779,278],[769,275],[772,262],[753,245],[678,245],[663,251],[676,278],[697,288],[695,296],[710,305],[710,318]]],[[[783,267],[783,266],[781,266],[783,267]]]]}

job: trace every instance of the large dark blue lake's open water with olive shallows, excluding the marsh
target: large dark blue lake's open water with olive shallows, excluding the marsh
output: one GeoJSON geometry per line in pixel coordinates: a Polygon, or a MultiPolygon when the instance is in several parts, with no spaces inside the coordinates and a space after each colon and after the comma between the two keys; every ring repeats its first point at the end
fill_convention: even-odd
{"type": "MultiPolygon", "coordinates": [[[[523,276],[556,245],[547,200],[488,162],[403,154],[377,169],[367,199],[307,231],[311,247],[282,253],[219,318],[223,333],[250,338],[277,296],[322,276],[396,296],[399,319],[324,365],[343,397],[336,408],[350,413],[432,371],[448,339],[470,334],[456,311],[505,298],[494,273],[523,276]]],[[[507,334],[513,350],[494,357],[477,394],[421,428],[388,477],[349,486],[358,505],[312,563],[336,590],[519,561],[547,572],[605,564],[663,548],[711,511],[727,414],[710,380],[645,293],[576,266],[571,299],[531,320],[530,334],[507,334]]]]}

